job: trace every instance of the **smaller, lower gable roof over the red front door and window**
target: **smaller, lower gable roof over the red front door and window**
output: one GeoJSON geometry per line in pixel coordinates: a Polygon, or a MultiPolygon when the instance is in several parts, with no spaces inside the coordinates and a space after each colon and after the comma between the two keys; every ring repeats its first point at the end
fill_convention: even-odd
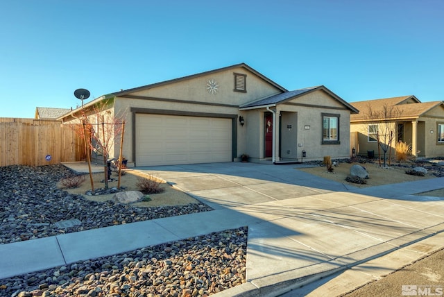
{"type": "Polygon", "coordinates": [[[357,108],[353,107],[352,105],[347,103],[345,100],[341,99],[341,97],[337,96],[336,94],[334,94],[332,91],[328,90],[327,87],[325,87],[323,85],[319,85],[316,87],[306,87],[304,89],[299,89],[299,90],[287,91],[282,94],[277,94],[277,95],[267,97],[265,99],[246,103],[244,105],[241,105],[239,110],[248,110],[248,109],[256,109],[256,108],[266,108],[267,106],[268,107],[275,106],[277,104],[285,103],[287,101],[296,99],[299,96],[309,94],[309,93],[315,92],[317,90],[323,90],[324,92],[326,92],[327,94],[332,96],[334,99],[336,99],[337,101],[339,101],[340,103],[345,105],[345,107],[348,108],[352,113],[359,112],[359,110],[357,110],[357,108]]]}

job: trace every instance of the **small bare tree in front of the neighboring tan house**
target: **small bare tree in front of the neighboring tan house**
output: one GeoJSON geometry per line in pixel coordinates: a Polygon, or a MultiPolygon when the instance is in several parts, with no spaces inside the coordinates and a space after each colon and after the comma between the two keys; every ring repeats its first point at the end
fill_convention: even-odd
{"type": "Polygon", "coordinates": [[[364,113],[365,118],[373,127],[373,133],[376,134],[376,141],[378,146],[379,166],[381,165],[381,158],[379,148],[384,153],[384,167],[386,166],[386,155],[393,144],[396,133],[396,120],[400,117],[401,111],[395,105],[384,104],[378,108],[367,106],[364,113]]]}

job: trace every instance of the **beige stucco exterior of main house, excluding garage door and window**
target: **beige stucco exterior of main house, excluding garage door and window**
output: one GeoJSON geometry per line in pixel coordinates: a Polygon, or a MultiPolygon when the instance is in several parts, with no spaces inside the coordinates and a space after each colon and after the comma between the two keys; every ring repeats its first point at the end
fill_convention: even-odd
{"type": "MultiPolygon", "coordinates": [[[[228,139],[232,143],[232,154],[228,161],[238,161],[246,153],[253,162],[301,162],[322,160],[325,155],[350,157],[350,113],[357,112],[326,87],[289,92],[245,64],[122,90],[94,99],[84,108],[88,110],[101,101],[109,101],[110,111],[125,120],[123,155],[128,164],[135,166],[140,164],[137,164],[137,159],[140,160],[137,151],[140,148],[136,149],[137,130],[144,132],[137,126],[140,114],[227,119],[230,123],[227,127],[232,130],[228,139]],[[239,77],[244,79],[241,87],[246,90],[237,90],[239,77]],[[210,83],[216,90],[210,90],[210,83]],[[262,102],[266,104],[260,105],[262,102]],[[329,144],[323,142],[326,114],[337,118],[339,124],[334,130],[339,139],[329,144]],[[244,119],[242,124],[240,117],[244,119]],[[270,133],[266,134],[266,128],[272,129],[270,133]],[[305,151],[303,158],[302,151],[305,151]]],[[[61,119],[72,122],[72,116],[79,112],[74,110],[61,119]]],[[[155,141],[157,139],[153,139],[155,141]]],[[[144,149],[149,150],[149,145],[144,149]]],[[[114,141],[110,154],[118,157],[119,150],[120,141],[114,141]]]]}

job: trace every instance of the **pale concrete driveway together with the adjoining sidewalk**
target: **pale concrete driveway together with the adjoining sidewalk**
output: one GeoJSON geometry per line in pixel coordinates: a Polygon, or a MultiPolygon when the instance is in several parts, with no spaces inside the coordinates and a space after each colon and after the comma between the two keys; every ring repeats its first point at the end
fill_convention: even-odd
{"type": "Polygon", "coordinates": [[[287,296],[318,296],[316,290],[325,296],[327,283],[316,282],[321,277],[348,275],[345,284],[352,286],[442,247],[444,198],[412,194],[439,189],[444,178],[359,189],[298,171],[297,166],[230,162],[138,167],[214,211],[3,244],[0,278],[248,226],[248,282],[216,295],[278,296],[314,283],[304,287],[309,291],[287,296]],[[378,262],[383,256],[390,260],[378,262]],[[350,269],[365,272],[345,273],[350,269]],[[351,281],[350,275],[359,279],[351,281]]]}

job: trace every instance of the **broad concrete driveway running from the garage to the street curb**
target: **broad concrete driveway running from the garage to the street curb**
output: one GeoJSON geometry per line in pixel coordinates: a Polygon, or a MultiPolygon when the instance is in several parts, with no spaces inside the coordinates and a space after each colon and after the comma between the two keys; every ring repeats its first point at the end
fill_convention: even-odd
{"type": "Polygon", "coordinates": [[[399,268],[441,247],[441,241],[425,240],[444,230],[444,198],[413,194],[443,187],[444,178],[359,189],[298,166],[234,162],[137,169],[214,207],[212,223],[248,226],[248,282],[229,296],[277,296],[410,247],[409,257],[398,256],[399,268]],[[415,248],[418,241],[423,244],[415,248]]]}

